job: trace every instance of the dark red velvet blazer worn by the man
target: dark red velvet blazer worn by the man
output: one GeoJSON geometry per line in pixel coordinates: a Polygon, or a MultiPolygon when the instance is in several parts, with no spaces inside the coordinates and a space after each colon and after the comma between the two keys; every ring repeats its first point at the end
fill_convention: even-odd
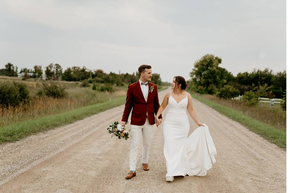
{"type": "MultiPolygon", "coordinates": [[[[148,112],[148,120],[150,125],[155,124],[155,115],[159,109],[159,100],[157,85],[152,82],[148,82],[149,93],[147,97],[147,102],[144,99],[139,80],[128,86],[127,98],[125,109],[122,117],[122,121],[127,122],[131,109],[131,125],[144,125],[146,122],[146,114],[148,112]],[[150,91],[150,87],[153,86],[153,91],[150,91]]],[[[159,116],[162,119],[162,115],[159,116]]]]}

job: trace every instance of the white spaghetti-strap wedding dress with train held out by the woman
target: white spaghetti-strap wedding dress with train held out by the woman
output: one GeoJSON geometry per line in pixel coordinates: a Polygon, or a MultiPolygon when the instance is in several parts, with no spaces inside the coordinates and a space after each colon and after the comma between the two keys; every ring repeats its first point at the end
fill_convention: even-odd
{"type": "Polygon", "coordinates": [[[189,121],[187,116],[188,98],[179,103],[171,96],[168,99],[168,112],[163,123],[164,156],[169,176],[206,176],[216,162],[216,148],[208,126],[196,128],[187,137],[189,121]]]}

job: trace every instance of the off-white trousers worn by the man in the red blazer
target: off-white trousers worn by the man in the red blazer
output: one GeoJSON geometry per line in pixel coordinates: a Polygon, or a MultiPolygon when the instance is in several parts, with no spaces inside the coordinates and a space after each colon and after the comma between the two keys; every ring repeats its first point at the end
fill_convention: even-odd
{"type": "Polygon", "coordinates": [[[144,125],[131,125],[131,147],[130,147],[130,170],[136,170],[138,147],[142,133],[143,148],[142,148],[142,163],[148,163],[150,140],[153,132],[153,126],[150,125],[148,118],[144,125]]]}

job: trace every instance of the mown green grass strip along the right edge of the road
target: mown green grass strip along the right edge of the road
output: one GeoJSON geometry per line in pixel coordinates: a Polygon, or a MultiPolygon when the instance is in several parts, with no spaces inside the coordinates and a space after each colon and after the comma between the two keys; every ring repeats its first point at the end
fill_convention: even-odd
{"type": "Polygon", "coordinates": [[[271,143],[277,144],[278,147],[286,148],[286,131],[275,128],[259,120],[253,119],[229,107],[214,103],[210,100],[202,98],[201,96],[195,95],[193,93],[191,95],[192,98],[200,101],[201,103],[204,103],[213,108],[214,110],[228,116],[229,118],[242,123],[251,131],[261,135],[263,138],[267,139],[271,143]]]}

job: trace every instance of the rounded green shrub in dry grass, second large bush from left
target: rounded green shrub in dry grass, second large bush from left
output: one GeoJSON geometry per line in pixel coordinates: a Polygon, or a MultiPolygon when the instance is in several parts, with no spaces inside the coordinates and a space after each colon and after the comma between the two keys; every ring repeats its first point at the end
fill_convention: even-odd
{"type": "Polygon", "coordinates": [[[66,87],[60,85],[54,81],[50,81],[49,83],[44,82],[43,88],[37,91],[37,95],[48,96],[53,98],[64,98],[67,96],[67,92],[65,91],[66,87]]]}

